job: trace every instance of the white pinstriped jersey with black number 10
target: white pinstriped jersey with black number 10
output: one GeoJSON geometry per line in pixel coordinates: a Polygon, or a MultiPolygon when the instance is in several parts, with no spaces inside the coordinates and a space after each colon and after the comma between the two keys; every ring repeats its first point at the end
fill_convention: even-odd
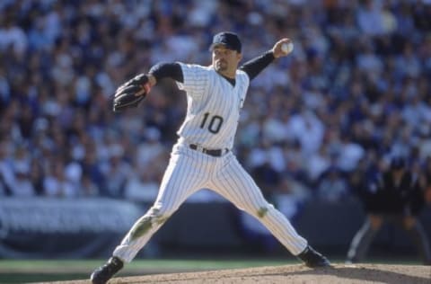
{"type": "Polygon", "coordinates": [[[177,134],[192,144],[209,149],[233,147],[240,110],[250,84],[249,76],[236,71],[235,85],[214,67],[180,63],[187,93],[187,114],[177,134]]]}

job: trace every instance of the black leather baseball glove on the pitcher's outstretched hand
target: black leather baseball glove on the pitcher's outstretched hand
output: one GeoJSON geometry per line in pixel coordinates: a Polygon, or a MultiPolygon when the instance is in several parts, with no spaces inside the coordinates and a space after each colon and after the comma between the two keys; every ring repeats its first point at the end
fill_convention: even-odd
{"type": "Polygon", "coordinates": [[[137,107],[146,95],[150,93],[151,85],[145,74],[136,75],[125,84],[119,86],[114,94],[114,111],[123,111],[128,108],[137,107]]]}

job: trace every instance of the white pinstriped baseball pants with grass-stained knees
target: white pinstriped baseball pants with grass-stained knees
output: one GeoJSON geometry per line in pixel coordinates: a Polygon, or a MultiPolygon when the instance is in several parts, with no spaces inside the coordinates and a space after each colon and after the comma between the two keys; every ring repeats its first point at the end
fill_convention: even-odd
{"type": "Polygon", "coordinates": [[[297,255],[307,246],[287,218],[265,200],[232,152],[214,157],[177,143],[154,205],[136,221],[113,255],[131,262],[167,218],[191,194],[203,188],[218,192],[238,209],[258,218],[290,253],[297,255]]]}

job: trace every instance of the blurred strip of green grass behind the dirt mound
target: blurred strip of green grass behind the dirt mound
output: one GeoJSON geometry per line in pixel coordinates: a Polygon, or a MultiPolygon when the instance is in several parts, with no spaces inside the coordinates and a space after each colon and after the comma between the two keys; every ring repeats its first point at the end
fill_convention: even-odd
{"type": "MultiPolygon", "coordinates": [[[[0,283],[31,283],[61,280],[85,280],[92,270],[106,260],[0,260],[0,283]]],[[[342,263],[342,259],[331,259],[333,263],[342,263]]],[[[209,271],[224,269],[241,269],[259,266],[277,266],[298,264],[295,259],[235,259],[235,260],[139,260],[128,263],[120,275],[145,275],[155,273],[169,273],[179,271],[209,271]]],[[[379,260],[369,263],[410,264],[420,262],[411,260],[379,260]]]]}

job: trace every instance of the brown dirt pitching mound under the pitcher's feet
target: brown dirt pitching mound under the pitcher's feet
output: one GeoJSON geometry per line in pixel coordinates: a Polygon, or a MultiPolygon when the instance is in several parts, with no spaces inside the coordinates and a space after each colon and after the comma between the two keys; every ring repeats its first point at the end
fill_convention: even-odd
{"type": "MultiPolygon", "coordinates": [[[[66,283],[66,282],[62,282],[66,283]]],[[[75,281],[74,283],[88,283],[75,281]]],[[[387,264],[335,264],[312,270],[303,265],[259,267],[241,270],[200,271],[117,277],[114,283],[431,283],[431,266],[387,264]]]]}

